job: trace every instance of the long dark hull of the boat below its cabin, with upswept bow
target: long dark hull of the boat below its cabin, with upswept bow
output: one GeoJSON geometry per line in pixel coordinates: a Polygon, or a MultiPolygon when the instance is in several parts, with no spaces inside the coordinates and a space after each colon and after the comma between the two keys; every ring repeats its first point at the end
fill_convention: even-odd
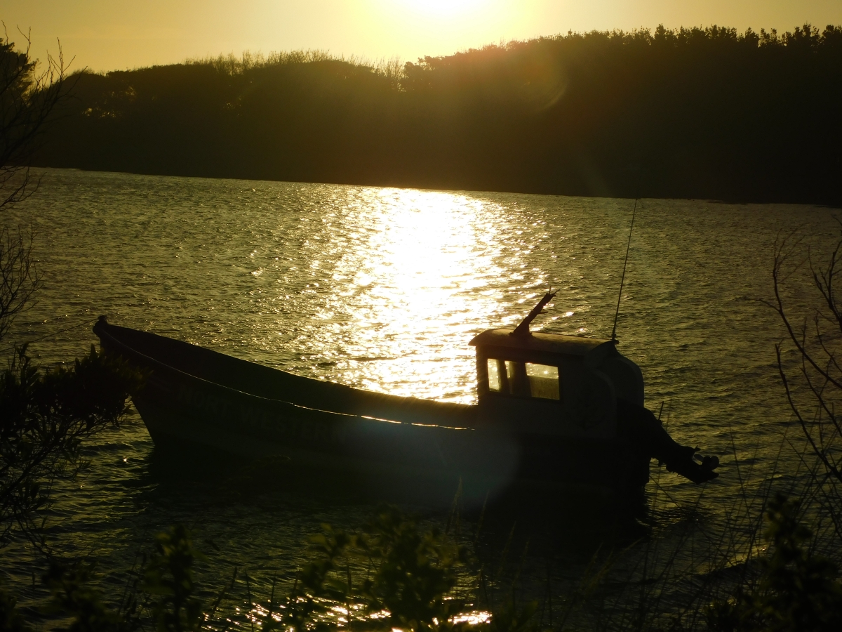
{"type": "MultiPolygon", "coordinates": [[[[290,401],[295,392],[280,392],[278,397],[248,393],[172,364],[177,357],[188,362],[191,353],[212,354],[200,360],[204,358],[207,366],[227,362],[232,373],[259,370],[254,375],[257,381],[286,378],[289,374],[264,375],[284,372],[104,322],[94,331],[105,351],[147,371],[147,383],[134,404],[153,442],[163,449],[177,446],[181,453],[200,454],[210,448],[246,462],[280,456],[297,467],[321,473],[354,471],[379,482],[401,477],[455,489],[461,480],[465,490],[476,496],[501,493],[516,481],[622,490],[644,485],[648,478],[648,462],[631,458],[617,441],[482,429],[469,425],[476,419],[472,406],[356,389],[349,389],[354,392],[347,398],[360,399],[360,405],[370,398],[371,408],[403,420],[356,414],[353,402],[344,404],[347,412],[322,410],[290,401]],[[169,363],[142,352],[150,349],[137,348],[144,342],[152,351],[160,351],[157,356],[168,356],[164,359],[169,363]],[[168,345],[177,346],[170,350],[168,345]]],[[[301,392],[324,388],[325,402],[337,401],[337,393],[346,397],[335,384],[318,380],[302,384],[301,392]]]]}

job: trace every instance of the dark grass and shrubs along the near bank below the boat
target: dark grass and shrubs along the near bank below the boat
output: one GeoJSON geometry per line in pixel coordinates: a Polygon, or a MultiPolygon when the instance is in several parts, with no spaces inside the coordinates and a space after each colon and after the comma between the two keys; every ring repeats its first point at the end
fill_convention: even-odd
{"type": "Polygon", "coordinates": [[[221,568],[175,527],[119,599],[89,588],[89,561],[51,567],[45,582],[77,629],[830,629],[842,612],[839,531],[807,455],[789,477],[738,463],[741,494],[722,522],[706,521],[716,499],[704,488],[677,502],[657,470],[642,536],[590,552],[577,578],[560,556],[530,553],[516,523],[495,533],[493,507],[462,515],[457,495],[439,528],[394,506],[353,532],[324,525],[297,570],[221,568]],[[197,576],[217,588],[201,589],[197,576]]]}

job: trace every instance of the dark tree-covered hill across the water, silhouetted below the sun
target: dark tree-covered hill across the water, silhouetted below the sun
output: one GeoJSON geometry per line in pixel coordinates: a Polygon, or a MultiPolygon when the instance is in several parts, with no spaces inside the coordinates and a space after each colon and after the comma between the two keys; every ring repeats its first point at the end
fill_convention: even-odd
{"type": "Polygon", "coordinates": [[[402,67],[247,55],[73,79],[41,165],[842,203],[842,27],[568,34],[402,67]]]}

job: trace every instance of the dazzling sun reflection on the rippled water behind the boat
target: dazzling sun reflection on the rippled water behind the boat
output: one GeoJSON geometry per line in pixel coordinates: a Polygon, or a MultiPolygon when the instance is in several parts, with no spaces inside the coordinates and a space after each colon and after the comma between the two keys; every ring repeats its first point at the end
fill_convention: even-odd
{"type": "MultiPolygon", "coordinates": [[[[313,281],[299,295],[317,313],[290,344],[330,358],[329,379],[338,372],[360,388],[472,401],[468,342],[511,320],[501,299],[514,278],[521,287],[545,282],[525,269],[529,249],[516,235],[514,247],[501,239],[511,211],[456,193],[360,189],[323,212],[307,238],[321,254],[306,262],[313,281]],[[335,216],[354,226],[350,234],[335,216]]],[[[319,373],[319,362],[309,368],[319,373]]]]}

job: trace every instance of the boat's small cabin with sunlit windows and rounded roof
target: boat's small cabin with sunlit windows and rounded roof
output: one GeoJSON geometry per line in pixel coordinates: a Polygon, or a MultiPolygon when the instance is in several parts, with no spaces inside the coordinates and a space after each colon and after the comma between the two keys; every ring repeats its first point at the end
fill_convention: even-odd
{"type": "Polygon", "coordinates": [[[517,329],[488,329],[471,340],[477,347],[477,422],[501,430],[514,425],[538,434],[615,437],[616,399],[643,405],[640,367],[617,351],[616,340],[530,332],[537,313],[517,329]]]}

